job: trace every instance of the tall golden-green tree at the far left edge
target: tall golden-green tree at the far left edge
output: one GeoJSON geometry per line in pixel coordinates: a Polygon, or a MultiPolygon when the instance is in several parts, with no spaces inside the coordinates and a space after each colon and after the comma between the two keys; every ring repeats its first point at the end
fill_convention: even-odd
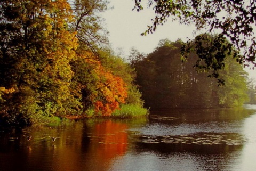
{"type": "Polygon", "coordinates": [[[73,77],[69,62],[78,46],[68,31],[69,4],[16,0],[0,6],[0,84],[15,89],[1,104],[1,115],[12,123],[34,123],[69,112],[65,105],[76,103],[68,88],[73,77]]]}

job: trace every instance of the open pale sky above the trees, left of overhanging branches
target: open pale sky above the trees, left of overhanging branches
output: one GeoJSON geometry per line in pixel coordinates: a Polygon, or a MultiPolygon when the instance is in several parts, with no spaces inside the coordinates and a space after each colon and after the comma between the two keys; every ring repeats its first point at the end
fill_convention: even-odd
{"type": "MultiPolygon", "coordinates": [[[[114,6],[114,9],[102,14],[106,20],[105,27],[109,31],[109,41],[115,51],[117,48],[123,48],[124,56],[129,55],[133,46],[141,53],[150,53],[154,51],[161,39],[168,38],[174,42],[178,38],[183,41],[194,38],[193,26],[180,25],[171,20],[163,26],[158,26],[153,34],[141,36],[140,34],[147,29],[147,25],[151,26],[151,19],[155,17],[152,9],[147,9],[147,5],[144,4],[142,11],[132,11],[134,0],[110,0],[109,6],[114,6]]],[[[256,80],[256,70],[246,69],[246,71],[256,80]]]]}

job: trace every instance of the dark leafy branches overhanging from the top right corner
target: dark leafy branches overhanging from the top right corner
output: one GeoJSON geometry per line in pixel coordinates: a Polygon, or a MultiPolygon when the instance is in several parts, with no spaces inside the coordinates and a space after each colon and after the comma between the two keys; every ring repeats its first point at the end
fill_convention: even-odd
{"type": "MultiPolygon", "coordinates": [[[[218,71],[225,67],[229,51],[240,64],[252,63],[254,67],[256,55],[256,40],[253,29],[256,20],[256,3],[254,0],[148,0],[148,6],[153,6],[156,16],[151,26],[141,35],[153,33],[158,25],[163,25],[167,19],[178,20],[186,25],[194,24],[196,30],[205,30],[205,34],[214,35],[220,30],[218,39],[202,34],[195,40],[188,40],[181,48],[184,59],[191,51],[195,51],[199,60],[206,63],[205,69],[212,71],[213,77],[224,84],[218,71]],[[227,40],[228,41],[227,41],[227,40]],[[202,46],[202,40],[206,43],[202,46]],[[216,41],[217,40],[217,41],[216,41]],[[223,44],[225,43],[225,44],[223,44]],[[233,48],[235,47],[235,48],[233,48]]],[[[141,0],[135,0],[134,9],[143,9],[141,0]]],[[[253,67],[253,68],[254,68],[253,67]]]]}

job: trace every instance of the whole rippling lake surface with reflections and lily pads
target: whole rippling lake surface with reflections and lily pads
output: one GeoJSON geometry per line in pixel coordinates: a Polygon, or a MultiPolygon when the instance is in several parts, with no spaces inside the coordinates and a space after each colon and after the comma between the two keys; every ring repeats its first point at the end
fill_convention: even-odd
{"type": "Polygon", "coordinates": [[[256,105],[0,131],[1,171],[256,170],[256,105]]]}

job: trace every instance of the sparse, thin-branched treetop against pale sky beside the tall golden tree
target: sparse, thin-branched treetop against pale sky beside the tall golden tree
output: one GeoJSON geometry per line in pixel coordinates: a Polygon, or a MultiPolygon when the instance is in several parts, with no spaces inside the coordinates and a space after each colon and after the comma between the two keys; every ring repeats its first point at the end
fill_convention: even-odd
{"type": "Polygon", "coordinates": [[[102,27],[103,19],[99,15],[107,10],[108,3],[107,0],[75,0],[70,2],[75,17],[71,29],[77,33],[79,48],[90,50],[95,55],[98,55],[99,48],[108,44],[108,31],[102,27]]]}

